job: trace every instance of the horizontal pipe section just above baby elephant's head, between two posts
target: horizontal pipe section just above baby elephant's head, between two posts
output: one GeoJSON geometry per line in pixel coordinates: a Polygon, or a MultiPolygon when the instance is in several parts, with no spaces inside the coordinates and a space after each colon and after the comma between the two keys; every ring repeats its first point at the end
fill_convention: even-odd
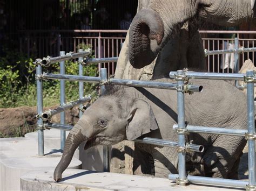
{"type": "Polygon", "coordinates": [[[159,88],[176,90],[177,83],[167,82],[154,82],[154,81],[139,81],[139,80],[124,80],[124,79],[109,79],[112,84],[132,86],[132,87],[145,87],[145,88],[159,88]]]}

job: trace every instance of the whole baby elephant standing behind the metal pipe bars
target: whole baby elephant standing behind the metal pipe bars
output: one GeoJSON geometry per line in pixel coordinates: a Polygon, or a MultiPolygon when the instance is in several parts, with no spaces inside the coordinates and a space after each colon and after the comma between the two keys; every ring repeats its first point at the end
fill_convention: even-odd
{"type": "MultiPolygon", "coordinates": [[[[160,79],[161,82],[173,82],[160,79]]],[[[221,80],[191,80],[204,86],[202,93],[185,95],[185,120],[190,125],[246,129],[246,96],[221,80]]],[[[80,143],[85,149],[113,145],[122,140],[152,137],[177,142],[177,91],[106,86],[70,131],[54,179],[62,179],[80,143]]],[[[244,137],[187,133],[186,142],[204,145],[203,153],[186,153],[186,170],[192,175],[238,178],[238,164],[246,144],[244,137]]],[[[136,143],[133,171],[167,178],[177,173],[176,148],[136,143]]]]}

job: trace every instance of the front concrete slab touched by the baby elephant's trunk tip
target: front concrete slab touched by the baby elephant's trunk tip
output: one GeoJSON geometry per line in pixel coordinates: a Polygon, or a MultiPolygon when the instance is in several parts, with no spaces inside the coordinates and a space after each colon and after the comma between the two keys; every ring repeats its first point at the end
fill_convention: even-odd
{"type": "Polygon", "coordinates": [[[21,177],[21,190],[239,190],[198,185],[177,186],[168,179],[127,174],[66,169],[63,180],[55,182],[53,171],[21,177]]]}

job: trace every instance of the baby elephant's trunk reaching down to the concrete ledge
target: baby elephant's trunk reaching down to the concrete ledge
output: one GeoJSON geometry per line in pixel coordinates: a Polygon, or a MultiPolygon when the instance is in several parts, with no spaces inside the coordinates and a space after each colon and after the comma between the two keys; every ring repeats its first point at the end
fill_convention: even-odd
{"type": "Polygon", "coordinates": [[[66,138],[64,151],[62,154],[62,158],[59,161],[59,164],[55,168],[54,171],[54,179],[55,181],[60,181],[62,179],[62,173],[69,166],[73,154],[76,151],[76,148],[84,141],[90,139],[92,137],[92,127],[83,123],[80,119],[77,124],[70,131],[69,136],[66,138]],[[84,127],[88,127],[86,132],[84,132],[84,127]]]}

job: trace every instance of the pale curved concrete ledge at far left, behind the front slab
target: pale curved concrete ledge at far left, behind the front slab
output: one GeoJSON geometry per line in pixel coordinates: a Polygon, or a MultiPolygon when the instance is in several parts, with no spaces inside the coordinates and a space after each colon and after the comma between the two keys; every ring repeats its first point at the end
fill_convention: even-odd
{"type": "MultiPolygon", "coordinates": [[[[45,156],[39,157],[37,142],[32,138],[0,139],[0,190],[19,190],[22,175],[54,170],[62,153],[56,147],[45,147],[45,156]]],[[[69,168],[80,168],[82,162],[73,158],[69,168]]]]}

